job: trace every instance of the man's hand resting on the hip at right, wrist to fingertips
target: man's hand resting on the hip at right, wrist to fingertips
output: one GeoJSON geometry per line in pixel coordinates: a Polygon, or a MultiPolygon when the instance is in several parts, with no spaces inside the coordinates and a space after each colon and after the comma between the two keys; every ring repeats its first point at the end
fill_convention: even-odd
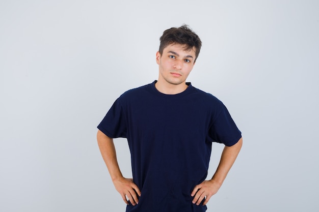
{"type": "Polygon", "coordinates": [[[204,180],[201,184],[195,186],[191,194],[193,198],[193,204],[199,205],[202,200],[206,197],[203,205],[206,205],[210,197],[217,193],[220,184],[216,183],[213,179],[204,180]]]}

